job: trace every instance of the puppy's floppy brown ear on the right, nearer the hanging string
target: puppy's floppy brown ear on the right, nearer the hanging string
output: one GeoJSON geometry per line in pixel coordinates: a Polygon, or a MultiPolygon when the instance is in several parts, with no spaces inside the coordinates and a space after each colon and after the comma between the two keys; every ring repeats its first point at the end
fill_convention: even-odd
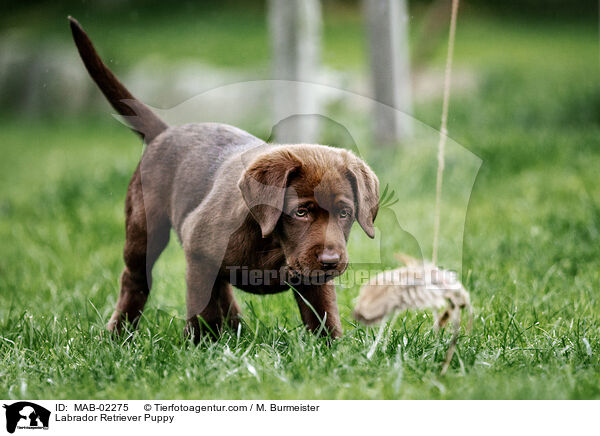
{"type": "Polygon", "coordinates": [[[373,222],[379,210],[379,179],[361,159],[349,165],[349,179],[354,189],[358,213],[356,220],[369,238],[375,237],[373,222]]]}

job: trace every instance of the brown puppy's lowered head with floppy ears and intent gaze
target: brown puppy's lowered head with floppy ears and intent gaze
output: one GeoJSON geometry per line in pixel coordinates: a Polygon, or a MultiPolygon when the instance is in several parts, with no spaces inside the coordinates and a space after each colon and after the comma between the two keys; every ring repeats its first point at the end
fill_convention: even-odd
{"type": "Polygon", "coordinates": [[[355,220],[375,235],[379,181],[347,150],[277,147],[250,164],[239,188],[263,238],[280,243],[292,275],[329,279],[344,272],[355,220]]]}

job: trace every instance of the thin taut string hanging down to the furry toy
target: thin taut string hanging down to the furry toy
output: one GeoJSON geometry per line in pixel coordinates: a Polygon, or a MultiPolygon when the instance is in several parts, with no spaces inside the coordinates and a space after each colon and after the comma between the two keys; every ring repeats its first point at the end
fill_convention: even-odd
{"type": "Polygon", "coordinates": [[[452,56],[454,54],[454,35],[456,34],[458,2],[459,0],[452,0],[450,36],[448,37],[448,55],[446,57],[446,71],[444,73],[444,97],[442,102],[440,141],[438,143],[438,170],[435,183],[435,212],[433,217],[433,254],[431,257],[434,265],[437,265],[440,239],[440,210],[442,208],[442,185],[444,182],[444,152],[446,150],[446,139],[448,137],[448,105],[450,104],[450,81],[452,79],[452,56]]]}

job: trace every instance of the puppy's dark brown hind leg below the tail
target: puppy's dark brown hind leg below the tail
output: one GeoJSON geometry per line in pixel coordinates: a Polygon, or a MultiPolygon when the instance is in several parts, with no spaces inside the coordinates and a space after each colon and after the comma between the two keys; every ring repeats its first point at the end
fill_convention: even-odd
{"type": "Polygon", "coordinates": [[[107,325],[117,332],[127,321],[137,326],[152,287],[152,267],[169,242],[168,218],[144,208],[139,167],[129,184],[125,212],[125,269],[117,307],[107,325]]]}

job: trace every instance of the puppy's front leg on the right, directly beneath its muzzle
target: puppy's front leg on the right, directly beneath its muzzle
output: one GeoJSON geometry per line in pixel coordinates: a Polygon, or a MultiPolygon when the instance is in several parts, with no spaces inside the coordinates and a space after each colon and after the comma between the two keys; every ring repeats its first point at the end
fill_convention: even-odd
{"type": "Polygon", "coordinates": [[[325,328],[322,334],[329,333],[332,338],[340,337],[342,335],[342,324],[337,307],[335,285],[325,283],[323,285],[296,287],[296,290],[297,292],[294,291],[294,297],[298,303],[302,321],[308,330],[312,332],[319,331],[321,320],[325,320],[325,328]],[[310,303],[312,309],[306,304],[307,302],[310,303]]]}

